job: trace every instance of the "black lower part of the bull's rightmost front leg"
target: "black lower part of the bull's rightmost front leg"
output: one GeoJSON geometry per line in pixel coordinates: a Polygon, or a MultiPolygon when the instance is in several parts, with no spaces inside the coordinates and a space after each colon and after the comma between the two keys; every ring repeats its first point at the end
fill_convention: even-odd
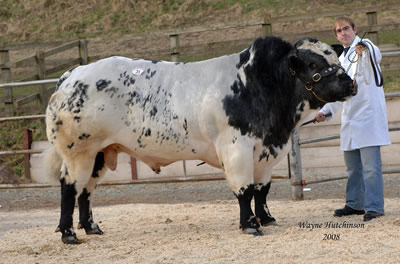
{"type": "Polygon", "coordinates": [[[258,183],[254,188],[255,212],[257,220],[262,226],[276,224],[276,220],[270,214],[267,206],[267,195],[270,187],[271,182],[268,182],[267,184],[258,183]]]}

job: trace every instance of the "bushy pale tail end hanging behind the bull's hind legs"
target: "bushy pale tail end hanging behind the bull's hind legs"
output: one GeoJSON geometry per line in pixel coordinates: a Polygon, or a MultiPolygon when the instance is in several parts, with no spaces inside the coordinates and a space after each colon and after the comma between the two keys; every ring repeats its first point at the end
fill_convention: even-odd
{"type": "Polygon", "coordinates": [[[53,145],[42,153],[42,168],[46,179],[51,183],[59,183],[63,160],[53,145]]]}

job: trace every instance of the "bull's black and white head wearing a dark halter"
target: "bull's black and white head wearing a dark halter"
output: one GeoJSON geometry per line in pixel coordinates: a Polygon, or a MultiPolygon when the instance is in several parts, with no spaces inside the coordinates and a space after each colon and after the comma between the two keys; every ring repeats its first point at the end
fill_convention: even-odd
{"type": "Polygon", "coordinates": [[[289,70],[312,96],[310,103],[344,101],[357,93],[357,85],[340,66],[338,52],[316,39],[299,40],[288,56],[289,70]]]}

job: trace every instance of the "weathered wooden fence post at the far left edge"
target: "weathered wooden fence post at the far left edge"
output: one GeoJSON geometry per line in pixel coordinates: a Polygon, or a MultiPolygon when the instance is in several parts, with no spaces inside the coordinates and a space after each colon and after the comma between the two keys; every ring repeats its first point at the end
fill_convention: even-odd
{"type": "MultiPolygon", "coordinates": [[[[10,52],[6,49],[0,50],[0,65],[1,65],[1,76],[3,82],[11,82],[11,68],[8,65],[10,62],[10,52]]],[[[8,87],[5,89],[5,107],[6,107],[6,114],[7,116],[14,116],[15,109],[14,109],[14,95],[13,95],[13,88],[8,87]]]]}

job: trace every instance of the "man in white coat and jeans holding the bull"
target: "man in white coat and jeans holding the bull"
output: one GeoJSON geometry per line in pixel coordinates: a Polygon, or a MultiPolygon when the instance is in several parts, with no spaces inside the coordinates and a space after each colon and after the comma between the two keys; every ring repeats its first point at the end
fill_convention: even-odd
{"type": "Polygon", "coordinates": [[[369,221],[384,215],[384,194],[380,146],[389,145],[385,95],[379,75],[382,55],[368,39],[359,44],[357,27],[349,17],[338,17],[334,33],[343,46],[340,63],[358,84],[350,100],[326,104],[315,116],[318,122],[334,115],[341,106],[340,148],[344,151],[348,181],[346,205],[334,216],[362,215],[369,221]],[[371,56],[370,56],[371,54],[371,56]],[[375,75],[374,68],[375,67],[375,75]],[[365,213],[365,211],[366,213],[365,213]]]}

